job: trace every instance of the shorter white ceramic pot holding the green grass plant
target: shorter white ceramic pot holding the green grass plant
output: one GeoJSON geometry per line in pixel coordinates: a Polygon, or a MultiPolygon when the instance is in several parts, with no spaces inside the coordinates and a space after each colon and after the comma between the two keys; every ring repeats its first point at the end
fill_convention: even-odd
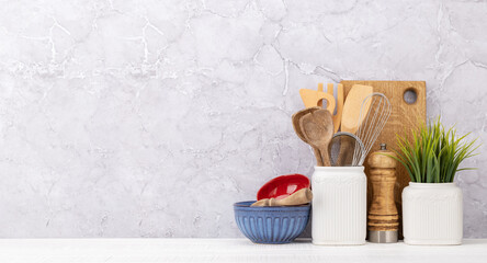
{"type": "Polygon", "coordinates": [[[463,195],[455,183],[409,183],[403,191],[407,244],[461,244],[463,195]]]}

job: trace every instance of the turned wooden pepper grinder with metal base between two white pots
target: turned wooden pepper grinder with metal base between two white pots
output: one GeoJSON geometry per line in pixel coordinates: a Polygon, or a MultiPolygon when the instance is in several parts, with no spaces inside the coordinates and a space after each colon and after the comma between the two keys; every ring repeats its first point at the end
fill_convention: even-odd
{"type": "Polygon", "coordinates": [[[394,202],[394,184],[396,183],[396,165],[394,152],[381,145],[381,150],[369,157],[371,167],[369,180],[372,183],[372,204],[367,216],[369,241],[374,243],[397,242],[399,216],[394,202]]]}

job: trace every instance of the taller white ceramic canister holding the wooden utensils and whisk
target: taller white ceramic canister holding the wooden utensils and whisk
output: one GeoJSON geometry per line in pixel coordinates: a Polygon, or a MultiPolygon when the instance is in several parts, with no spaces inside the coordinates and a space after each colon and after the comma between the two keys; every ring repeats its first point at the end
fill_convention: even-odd
{"type": "Polygon", "coordinates": [[[366,176],[363,167],[315,167],[312,178],[314,244],[363,244],[366,176]]]}

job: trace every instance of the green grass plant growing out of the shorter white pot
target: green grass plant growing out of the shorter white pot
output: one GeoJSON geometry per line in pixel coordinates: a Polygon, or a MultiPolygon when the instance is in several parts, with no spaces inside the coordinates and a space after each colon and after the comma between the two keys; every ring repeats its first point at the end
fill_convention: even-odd
{"type": "Polygon", "coordinates": [[[457,137],[454,127],[445,130],[438,118],[411,129],[410,140],[397,135],[397,157],[392,157],[406,168],[411,182],[451,183],[456,172],[474,169],[458,169],[462,161],[476,156],[475,150],[479,147],[475,144],[477,139],[466,141],[468,134],[457,137]]]}

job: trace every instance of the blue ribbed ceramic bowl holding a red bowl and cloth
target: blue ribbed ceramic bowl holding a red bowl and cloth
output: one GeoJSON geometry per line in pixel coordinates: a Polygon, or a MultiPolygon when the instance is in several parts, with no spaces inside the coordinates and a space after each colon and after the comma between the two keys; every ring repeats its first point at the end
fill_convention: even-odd
{"type": "Polygon", "coordinates": [[[240,231],[254,243],[290,243],[306,228],[310,205],[251,207],[254,201],[234,204],[240,231]]]}

